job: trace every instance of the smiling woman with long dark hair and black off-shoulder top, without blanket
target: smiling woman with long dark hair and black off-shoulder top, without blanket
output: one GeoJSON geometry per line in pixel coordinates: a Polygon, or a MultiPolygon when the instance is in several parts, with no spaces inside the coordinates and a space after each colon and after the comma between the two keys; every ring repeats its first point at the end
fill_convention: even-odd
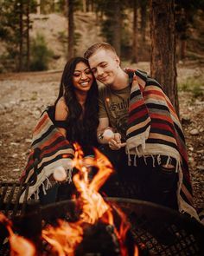
{"type": "Polygon", "coordinates": [[[96,146],[98,86],[86,59],[76,57],[67,62],[54,107],[55,125],[68,141],[96,146]]]}

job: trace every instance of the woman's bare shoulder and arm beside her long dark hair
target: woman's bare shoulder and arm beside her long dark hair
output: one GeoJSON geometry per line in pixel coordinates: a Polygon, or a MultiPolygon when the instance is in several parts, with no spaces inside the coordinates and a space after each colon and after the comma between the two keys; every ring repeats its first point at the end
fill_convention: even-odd
{"type": "MultiPolygon", "coordinates": [[[[68,108],[63,97],[57,102],[55,106],[55,121],[66,121],[68,115],[68,108]]],[[[62,135],[67,137],[67,130],[65,128],[58,127],[62,135]]]]}

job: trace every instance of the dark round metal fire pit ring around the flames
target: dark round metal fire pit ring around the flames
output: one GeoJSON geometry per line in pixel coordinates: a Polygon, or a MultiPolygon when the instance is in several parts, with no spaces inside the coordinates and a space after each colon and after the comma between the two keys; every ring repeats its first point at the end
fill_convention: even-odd
{"type": "MultiPolygon", "coordinates": [[[[150,255],[204,255],[204,226],[168,207],[142,200],[105,198],[115,203],[131,222],[137,244],[144,244],[150,255]]],[[[41,207],[41,218],[52,222],[66,213],[74,218],[75,201],[64,200],[41,207]]]]}

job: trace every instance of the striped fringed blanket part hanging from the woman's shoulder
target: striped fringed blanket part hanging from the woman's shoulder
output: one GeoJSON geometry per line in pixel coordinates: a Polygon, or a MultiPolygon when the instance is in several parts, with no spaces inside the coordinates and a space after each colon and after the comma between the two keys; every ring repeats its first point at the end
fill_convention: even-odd
{"type": "MultiPolygon", "coordinates": [[[[54,173],[56,167],[64,167],[67,170],[68,181],[72,181],[73,146],[54,126],[49,110],[50,108],[42,113],[35,127],[27,165],[21,176],[22,182],[31,184],[28,199],[33,195],[38,199],[40,186],[43,193],[46,194],[46,190],[52,186],[48,178],[54,173]],[[35,167],[36,154],[37,168],[35,167]]],[[[20,201],[23,200],[24,195],[25,191],[23,191],[20,201]]]]}

